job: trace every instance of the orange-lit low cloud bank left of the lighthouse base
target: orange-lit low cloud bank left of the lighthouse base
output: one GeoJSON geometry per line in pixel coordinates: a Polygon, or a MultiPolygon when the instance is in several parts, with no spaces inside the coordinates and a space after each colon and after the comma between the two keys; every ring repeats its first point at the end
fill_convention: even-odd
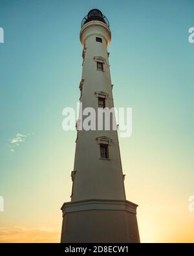
{"type": "Polygon", "coordinates": [[[59,242],[60,230],[50,227],[0,227],[0,242],[59,242]]]}

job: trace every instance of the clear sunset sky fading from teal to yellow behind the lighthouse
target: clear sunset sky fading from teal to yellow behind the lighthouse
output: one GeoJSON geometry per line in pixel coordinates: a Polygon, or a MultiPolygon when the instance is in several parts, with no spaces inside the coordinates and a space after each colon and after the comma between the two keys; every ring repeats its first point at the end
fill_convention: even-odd
{"type": "Polygon", "coordinates": [[[80,97],[92,8],[110,23],[114,105],[133,109],[120,151],[140,239],[194,242],[192,0],[0,1],[0,242],[59,242],[76,146],[61,113],[80,97]]]}

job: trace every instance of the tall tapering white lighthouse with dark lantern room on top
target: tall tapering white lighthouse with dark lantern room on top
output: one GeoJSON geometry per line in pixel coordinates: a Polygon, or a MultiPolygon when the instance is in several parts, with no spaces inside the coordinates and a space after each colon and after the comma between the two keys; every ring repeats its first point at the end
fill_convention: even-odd
{"type": "MultiPolygon", "coordinates": [[[[83,68],[80,102],[113,108],[107,46],[109,21],[91,10],[81,23],[83,68]]],[[[84,120],[81,117],[78,124],[84,120]]],[[[136,207],[126,200],[118,134],[109,129],[78,130],[71,201],[64,203],[61,242],[140,242],[136,207]]]]}

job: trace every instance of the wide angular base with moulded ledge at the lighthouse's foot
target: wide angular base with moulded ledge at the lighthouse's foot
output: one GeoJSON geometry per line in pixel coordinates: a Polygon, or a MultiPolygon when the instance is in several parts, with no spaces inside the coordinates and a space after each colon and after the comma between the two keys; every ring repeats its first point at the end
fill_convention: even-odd
{"type": "Polygon", "coordinates": [[[61,242],[140,242],[136,207],[127,200],[83,200],[63,204],[61,242]]]}

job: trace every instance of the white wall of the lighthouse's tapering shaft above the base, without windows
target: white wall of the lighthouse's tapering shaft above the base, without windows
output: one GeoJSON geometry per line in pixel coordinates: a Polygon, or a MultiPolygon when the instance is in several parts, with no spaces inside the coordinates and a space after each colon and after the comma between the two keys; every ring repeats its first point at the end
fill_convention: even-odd
{"type": "MultiPolygon", "coordinates": [[[[111,41],[111,31],[100,21],[91,21],[83,26],[80,40],[86,47],[83,61],[83,89],[80,101],[83,108],[98,110],[98,98],[95,91],[104,91],[109,96],[106,106],[113,108],[113,94],[107,45],[111,41]],[[96,41],[102,38],[102,43],[96,41]],[[96,70],[95,56],[105,59],[104,71],[96,70]]],[[[76,176],[72,201],[86,199],[125,199],[122,165],[116,131],[79,131],[74,161],[76,176]],[[96,137],[107,136],[113,139],[109,146],[110,160],[100,159],[100,145],[96,137]]]]}

